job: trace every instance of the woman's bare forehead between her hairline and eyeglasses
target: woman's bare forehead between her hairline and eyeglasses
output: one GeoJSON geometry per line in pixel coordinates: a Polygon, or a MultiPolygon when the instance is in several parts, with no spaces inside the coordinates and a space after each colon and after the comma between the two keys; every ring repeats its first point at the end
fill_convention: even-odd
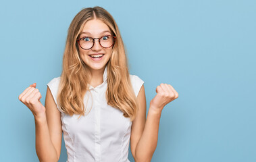
{"type": "Polygon", "coordinates": [[[101,34],[101,32],[106,30],[110,32],[110,29],[107,26],[107,24],[105,24],[99,19],[93,19],[93,20],[89,20],[84,24],[84,27],[82,28],[82,33],[86,32],[86,34],[90,33],[93,35],[97,35],[97,34],[101,34]]]}

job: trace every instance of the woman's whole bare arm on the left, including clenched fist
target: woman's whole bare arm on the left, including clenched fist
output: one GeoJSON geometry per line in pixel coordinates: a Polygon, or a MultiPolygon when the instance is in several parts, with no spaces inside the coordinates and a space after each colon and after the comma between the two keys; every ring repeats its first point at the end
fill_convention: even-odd
{"type": "Polygon", "coordinates": [[[30,85],[19,96],[34,115],[36,126],[36,154],[41,162],[57,162],[61,151],[61,114],[47,88],[45,107],[36,84],[30,85]]]}

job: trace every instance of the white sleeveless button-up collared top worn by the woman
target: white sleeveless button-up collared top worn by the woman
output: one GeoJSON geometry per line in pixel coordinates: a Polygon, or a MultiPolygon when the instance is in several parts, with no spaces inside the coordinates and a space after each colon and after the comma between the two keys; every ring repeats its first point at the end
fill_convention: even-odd
{"type": "MultiPolygon", "coordinates": [[[[58,78],[53,78],[47,86],[51,90],[57,105],[58,78]]],[[[130,75],[132,88],[137,97],[143,85],[138,76],[130,75]]],[[[61,112],[63,138],[65,140],[68,161],[122,161],[128,162],[128,148],[132,122],[123,116],[119,109],[107,105],[107,68],[103,74],[103,83],[97,87],[90,86],[84,95],[86,115],[70,116],[61,112]]]]}

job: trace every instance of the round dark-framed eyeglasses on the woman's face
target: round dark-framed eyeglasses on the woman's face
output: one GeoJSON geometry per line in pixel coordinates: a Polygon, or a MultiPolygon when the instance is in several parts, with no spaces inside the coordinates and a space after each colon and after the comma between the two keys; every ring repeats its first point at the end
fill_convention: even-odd
{"type": "Polygon", "coordinates": [[[93,45],[95,44],[95,39],[99,39],[99,45],[101,45],[101,47],[103,47],[104,49],[107,49],[115,44],[116,36],[105,35],[101,36],[101,38],[91,38],[88,36],[84,36],[82,38],[76,39],[76,41],[82,49],[88,50],[93,48],[93,45]]]}

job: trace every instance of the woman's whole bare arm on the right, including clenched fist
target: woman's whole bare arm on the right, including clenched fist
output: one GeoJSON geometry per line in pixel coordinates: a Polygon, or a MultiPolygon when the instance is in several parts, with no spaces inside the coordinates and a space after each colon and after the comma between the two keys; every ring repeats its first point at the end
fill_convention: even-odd
{"type": "Polygon", "coordinates": [[[163,107],[178,98],[178,92],[168,84],[157,86],[157,95],[151,101],[147,120],[144,86],[138,93],[138,114],[132,121],[131,151],[136,162],[151,161],[157,147],[159,122],[163,107]]]}

